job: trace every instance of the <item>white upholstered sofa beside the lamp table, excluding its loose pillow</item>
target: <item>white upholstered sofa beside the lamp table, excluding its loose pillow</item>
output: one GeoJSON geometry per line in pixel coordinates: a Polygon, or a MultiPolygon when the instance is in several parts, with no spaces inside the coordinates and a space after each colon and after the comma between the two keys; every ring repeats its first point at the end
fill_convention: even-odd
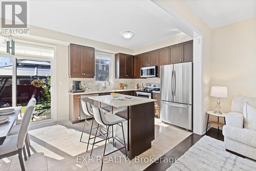
{"type": "Polygon", "coordinates": [[[232,100],[231,111],[223,126],[225,148],[256,160],[256,131],[243,126],[243,106],[245,102],[256,108],[256,98],[238,96],[232,100]]]}

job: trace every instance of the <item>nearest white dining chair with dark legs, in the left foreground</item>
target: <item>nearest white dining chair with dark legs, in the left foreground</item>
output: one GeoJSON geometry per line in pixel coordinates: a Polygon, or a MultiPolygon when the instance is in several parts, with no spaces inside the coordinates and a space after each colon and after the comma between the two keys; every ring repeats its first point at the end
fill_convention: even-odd
{"type": "Polygon", "coordinates": [[[29,101],[25,110],[18,134],[7,136],[4,143],[0,145],[0,159],[18,154],[19,164],[22,168],[22,171],[25,171],[22,153],[24,153],[25,158],[25,138],[28,133],[29,124],[33,115],[35,104],[36,100],[32,98],[31,101],[29,101]]]}

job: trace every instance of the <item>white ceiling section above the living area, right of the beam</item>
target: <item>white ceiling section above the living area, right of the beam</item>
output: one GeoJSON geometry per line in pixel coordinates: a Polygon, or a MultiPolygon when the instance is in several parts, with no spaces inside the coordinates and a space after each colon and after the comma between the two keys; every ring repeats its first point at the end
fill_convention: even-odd
{"type": "Polygon", "coordinates": [[[256,0],[182,0],[211,29],[256,16],[256,0]]]}

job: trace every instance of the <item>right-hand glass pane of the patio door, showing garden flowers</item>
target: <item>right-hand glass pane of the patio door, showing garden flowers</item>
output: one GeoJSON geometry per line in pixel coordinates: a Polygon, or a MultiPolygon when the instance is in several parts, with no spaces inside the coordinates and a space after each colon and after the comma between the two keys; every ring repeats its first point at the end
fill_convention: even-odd
{"type": "Polygon", "coordinates": [[[22,116],[31,98],[36,99],[32,121],[51,119],[51,61],[16,59],[16,105],[23,106],[22,116]]]}

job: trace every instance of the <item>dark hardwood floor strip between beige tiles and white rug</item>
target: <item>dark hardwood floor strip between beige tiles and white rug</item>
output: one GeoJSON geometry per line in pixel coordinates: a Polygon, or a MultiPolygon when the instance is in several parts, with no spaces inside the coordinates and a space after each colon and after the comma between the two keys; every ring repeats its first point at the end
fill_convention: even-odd
{"type": "MultiPolygon", "coordinates": [[[[184,153],[186,153],[186,151],[188,151],[188,149],[191,146],[193,146],[203,136],[204,135],[201,136],[201,135],[194,134],[194,133],[191,134],[186,139],[184,139],[182,142],[180,142],[178,145],[176,145],[174,148],[170,149],[169,152],[167,152],[165,155],[163,155],[159,159],[159,160],[161,160],[161,162],[159,162],[159,160],[158,160],[158,161],[152,163],[150,166],[148,166],[144,170],[146,170],[146,171],[166,170],[168,167],[170,167],[170,165],[173,164],[172,161],[174,161],[175,158],[181,157],[184,153]],[[167,158],[167,159],[172,158],[172,160],[170,162],[163,162],[165,158],[167,158]]],[[[218,129],[215,129],[213,127],[211,127],[211,129],[209,129],[209,131],[207,132],[207,136],[224,141],[224,136],[222,135],[222,130],[220,130],[218,132],[218,129]]]]}

